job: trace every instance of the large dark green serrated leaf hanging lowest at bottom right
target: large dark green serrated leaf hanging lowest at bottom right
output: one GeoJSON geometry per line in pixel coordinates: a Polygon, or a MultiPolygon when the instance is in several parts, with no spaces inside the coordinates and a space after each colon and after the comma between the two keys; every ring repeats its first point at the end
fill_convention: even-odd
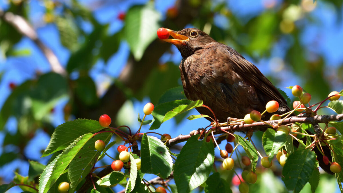
{"type": "Polygon", "coordinates": [[[309,149],[298,149],[289,155],[282,170],[282,180],[288,190],[300,192],[311,178],[316,166],[316,154],[309,149]]]}

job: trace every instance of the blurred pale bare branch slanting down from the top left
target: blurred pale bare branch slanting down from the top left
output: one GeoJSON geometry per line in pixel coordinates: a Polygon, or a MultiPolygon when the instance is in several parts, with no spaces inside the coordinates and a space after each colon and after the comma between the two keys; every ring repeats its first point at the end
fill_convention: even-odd
{"type": "Polygon", "coordinates": [[[66,75],[66,70],[60,64],[57,56],[48,48],[40,39],[33,27],[20,15],[16,15],[12,12],[3,12],[0,10],[0,18],[8,24],[12,25],[20,34],[30,38],[40,50],[42,50],[44,56],[47,58],[51,70],[61,75],[66,75]]]}

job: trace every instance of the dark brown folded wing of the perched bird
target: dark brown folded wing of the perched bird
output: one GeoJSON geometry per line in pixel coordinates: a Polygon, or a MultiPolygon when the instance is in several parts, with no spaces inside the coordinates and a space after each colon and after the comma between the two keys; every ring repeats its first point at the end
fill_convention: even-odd
{"type": "Polygon", "coordinates": [[[271,100],[279,102],[280,105],[285,106],[287,110],[289,110],[287,102],[281,93],[255,65],[247,61],[233,48],[226,45],[224,46],[226,47],[226,52],[229,53],[229,61],[231,62],[232,68],[236,73],[238,73],[245,81],[247,81],[251,87],[255,88],[257,93],[260,92],[265,94],[271,100]]]}

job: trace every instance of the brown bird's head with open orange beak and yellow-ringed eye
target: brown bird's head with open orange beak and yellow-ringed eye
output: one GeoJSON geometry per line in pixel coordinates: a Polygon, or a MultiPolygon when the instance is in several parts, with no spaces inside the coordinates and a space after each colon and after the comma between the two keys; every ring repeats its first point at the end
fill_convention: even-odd
{"type": "Polygon", "coordinates": [[[182,58],[192,55],[206,44],[214,42],[214,39],[205,32],[196,28],[186,28],[178,32],[166,29],[173,38],[162,39],[174,44],[180,51],[182,58]]]}

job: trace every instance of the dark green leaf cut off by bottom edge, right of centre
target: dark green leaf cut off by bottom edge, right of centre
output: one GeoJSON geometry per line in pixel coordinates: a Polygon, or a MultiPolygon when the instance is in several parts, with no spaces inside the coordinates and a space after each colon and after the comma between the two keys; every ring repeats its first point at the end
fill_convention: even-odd
{"type": "Polygon", "coordinates": [[[218,172],[213,173],[206,180],[205,193],[230,193],[232,192],[227,183],[220,178],[218,172]]]}

